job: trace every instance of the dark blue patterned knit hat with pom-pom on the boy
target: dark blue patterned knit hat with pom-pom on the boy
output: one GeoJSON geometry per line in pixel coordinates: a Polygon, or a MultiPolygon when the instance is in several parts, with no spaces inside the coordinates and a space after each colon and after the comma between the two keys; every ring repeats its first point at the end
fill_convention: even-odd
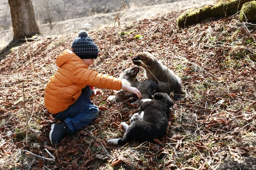
{"type": "Polygon", "coordinates": [[[71,50],[81,59],[96,59],[99,49],[85,30],[81,30],[72,42],[71,50]]]}

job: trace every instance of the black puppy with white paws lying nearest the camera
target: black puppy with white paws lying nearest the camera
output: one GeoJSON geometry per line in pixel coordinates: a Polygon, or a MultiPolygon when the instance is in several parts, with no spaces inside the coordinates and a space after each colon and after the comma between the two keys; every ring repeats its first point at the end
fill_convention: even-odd
{"type": "Polygon", "coordinates": [[[122,122],[126,130],[122,138],[110,139],[112,144],[126,144],[132,140],[139,142],[153,142],[153,139],[160,139],[166,133],[168,125],[169,108],[173,105],[172,99],[166,93],[156,93],[152,100],[141,101],[141,112],[134,116],[131,125],[122,122]]]}

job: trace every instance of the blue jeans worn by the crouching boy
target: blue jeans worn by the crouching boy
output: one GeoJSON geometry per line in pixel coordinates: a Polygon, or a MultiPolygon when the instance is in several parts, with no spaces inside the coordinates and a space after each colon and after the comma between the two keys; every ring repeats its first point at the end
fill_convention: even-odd
{"type": "Polygon", "coordinates": [[[75,103],[65,111],[57,113],[54,118],[64,121],[73,133],[93,122],[99,116],[99,108],[90,101],[93,90],[89,86],[82,89],[82,93],[75,103]]]}

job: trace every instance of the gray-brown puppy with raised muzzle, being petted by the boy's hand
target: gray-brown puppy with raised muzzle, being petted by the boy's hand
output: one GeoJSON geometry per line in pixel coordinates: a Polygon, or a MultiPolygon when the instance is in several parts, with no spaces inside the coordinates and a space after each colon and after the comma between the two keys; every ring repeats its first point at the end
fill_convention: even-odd
{"type": "MultiPolygon", "coordinates": [[[[141,99],[151,99],[157,89],[157,84],[153,80],[146,79],[143,82],[138,81],[136,77],[139,71],[140,71],[139,67],[127,68],[122,70],[122,73],[119,76],[119,79],[122,80],[122,84],[138,88],[138,90],[142,95],[140,99],[138,99],[136,102],[132,104],[137,104],[138,102],[140,102],[141,99]]],[[[120,91],[116,91],[115,95],[108,96],[108,101],[114,103],[114,102],[123,101],[131,97],[136,98],[137,96],[128,91],[120,90],[120,91]]]]}

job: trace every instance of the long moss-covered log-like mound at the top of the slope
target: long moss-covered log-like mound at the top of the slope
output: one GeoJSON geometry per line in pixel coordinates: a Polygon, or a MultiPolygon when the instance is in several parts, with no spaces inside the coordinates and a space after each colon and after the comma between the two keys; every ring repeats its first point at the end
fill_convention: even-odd
{"type": "Polygon", "coordinates": [[[188,9],[177,20],[177,26],[184,28],[192,24],[200,23],[208,17],[226,17],[240,11],[242,5],[251,0],[225,0],[216,4],[206,5],[200,8],[188,9]]]}

